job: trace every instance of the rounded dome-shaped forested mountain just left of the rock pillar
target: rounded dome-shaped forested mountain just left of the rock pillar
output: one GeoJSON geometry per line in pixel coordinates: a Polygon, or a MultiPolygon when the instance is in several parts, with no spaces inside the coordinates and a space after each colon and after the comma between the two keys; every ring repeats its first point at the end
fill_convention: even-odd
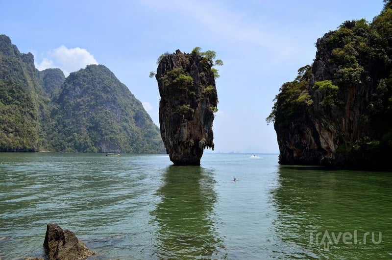
{"type": "Polygon", "coordinates": [[[58,151],[163,152],[159,130],[137,100],[102,65],[90,65],[66,79],[51,146],[58,151]]]}

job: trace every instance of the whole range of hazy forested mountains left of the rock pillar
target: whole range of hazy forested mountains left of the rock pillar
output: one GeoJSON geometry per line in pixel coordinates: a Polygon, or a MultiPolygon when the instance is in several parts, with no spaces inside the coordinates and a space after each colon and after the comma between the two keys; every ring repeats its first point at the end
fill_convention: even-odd
{"type": "Polygon", "coordinates": [[[142,103],[103,65],[38,71],[0,35],[0,151],[164,153],[142,103]]]}

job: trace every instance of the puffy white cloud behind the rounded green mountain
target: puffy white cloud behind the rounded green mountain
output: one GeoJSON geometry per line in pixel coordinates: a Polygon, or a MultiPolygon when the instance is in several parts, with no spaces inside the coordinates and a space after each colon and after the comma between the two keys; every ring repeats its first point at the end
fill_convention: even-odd
{"type": "Polygon", "coordinates": [[[41,63],[35,64],[40,71],[49,68],[60,68],[65,76],[70,72],[78,71],[90,64],[98,64],[94,56],[84,48],[67,48],[64,45],[47,53],[41,63]]]}

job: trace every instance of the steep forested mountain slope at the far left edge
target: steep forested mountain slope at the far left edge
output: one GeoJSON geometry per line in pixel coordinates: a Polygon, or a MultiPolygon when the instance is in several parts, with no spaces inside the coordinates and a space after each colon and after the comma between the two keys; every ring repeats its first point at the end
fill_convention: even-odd
{"type": "Polygon", "coordinates": [[[42,125],[49,114],[31,53],[22,54],[0,35],[0,151],[34,151],[45,142],[42,125]]]}

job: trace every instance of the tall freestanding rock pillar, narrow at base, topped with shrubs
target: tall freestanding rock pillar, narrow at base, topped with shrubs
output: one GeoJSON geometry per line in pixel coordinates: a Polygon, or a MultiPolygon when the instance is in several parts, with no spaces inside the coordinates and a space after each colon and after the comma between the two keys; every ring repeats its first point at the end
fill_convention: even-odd
{"type": "Polygon", "coordinates": [[[161,56],[156,79],[162,140],[174,165],[200,165],[205,148],[214,149],[212,123],[218,96],[212,61],[176,50],[161,56]]]}

